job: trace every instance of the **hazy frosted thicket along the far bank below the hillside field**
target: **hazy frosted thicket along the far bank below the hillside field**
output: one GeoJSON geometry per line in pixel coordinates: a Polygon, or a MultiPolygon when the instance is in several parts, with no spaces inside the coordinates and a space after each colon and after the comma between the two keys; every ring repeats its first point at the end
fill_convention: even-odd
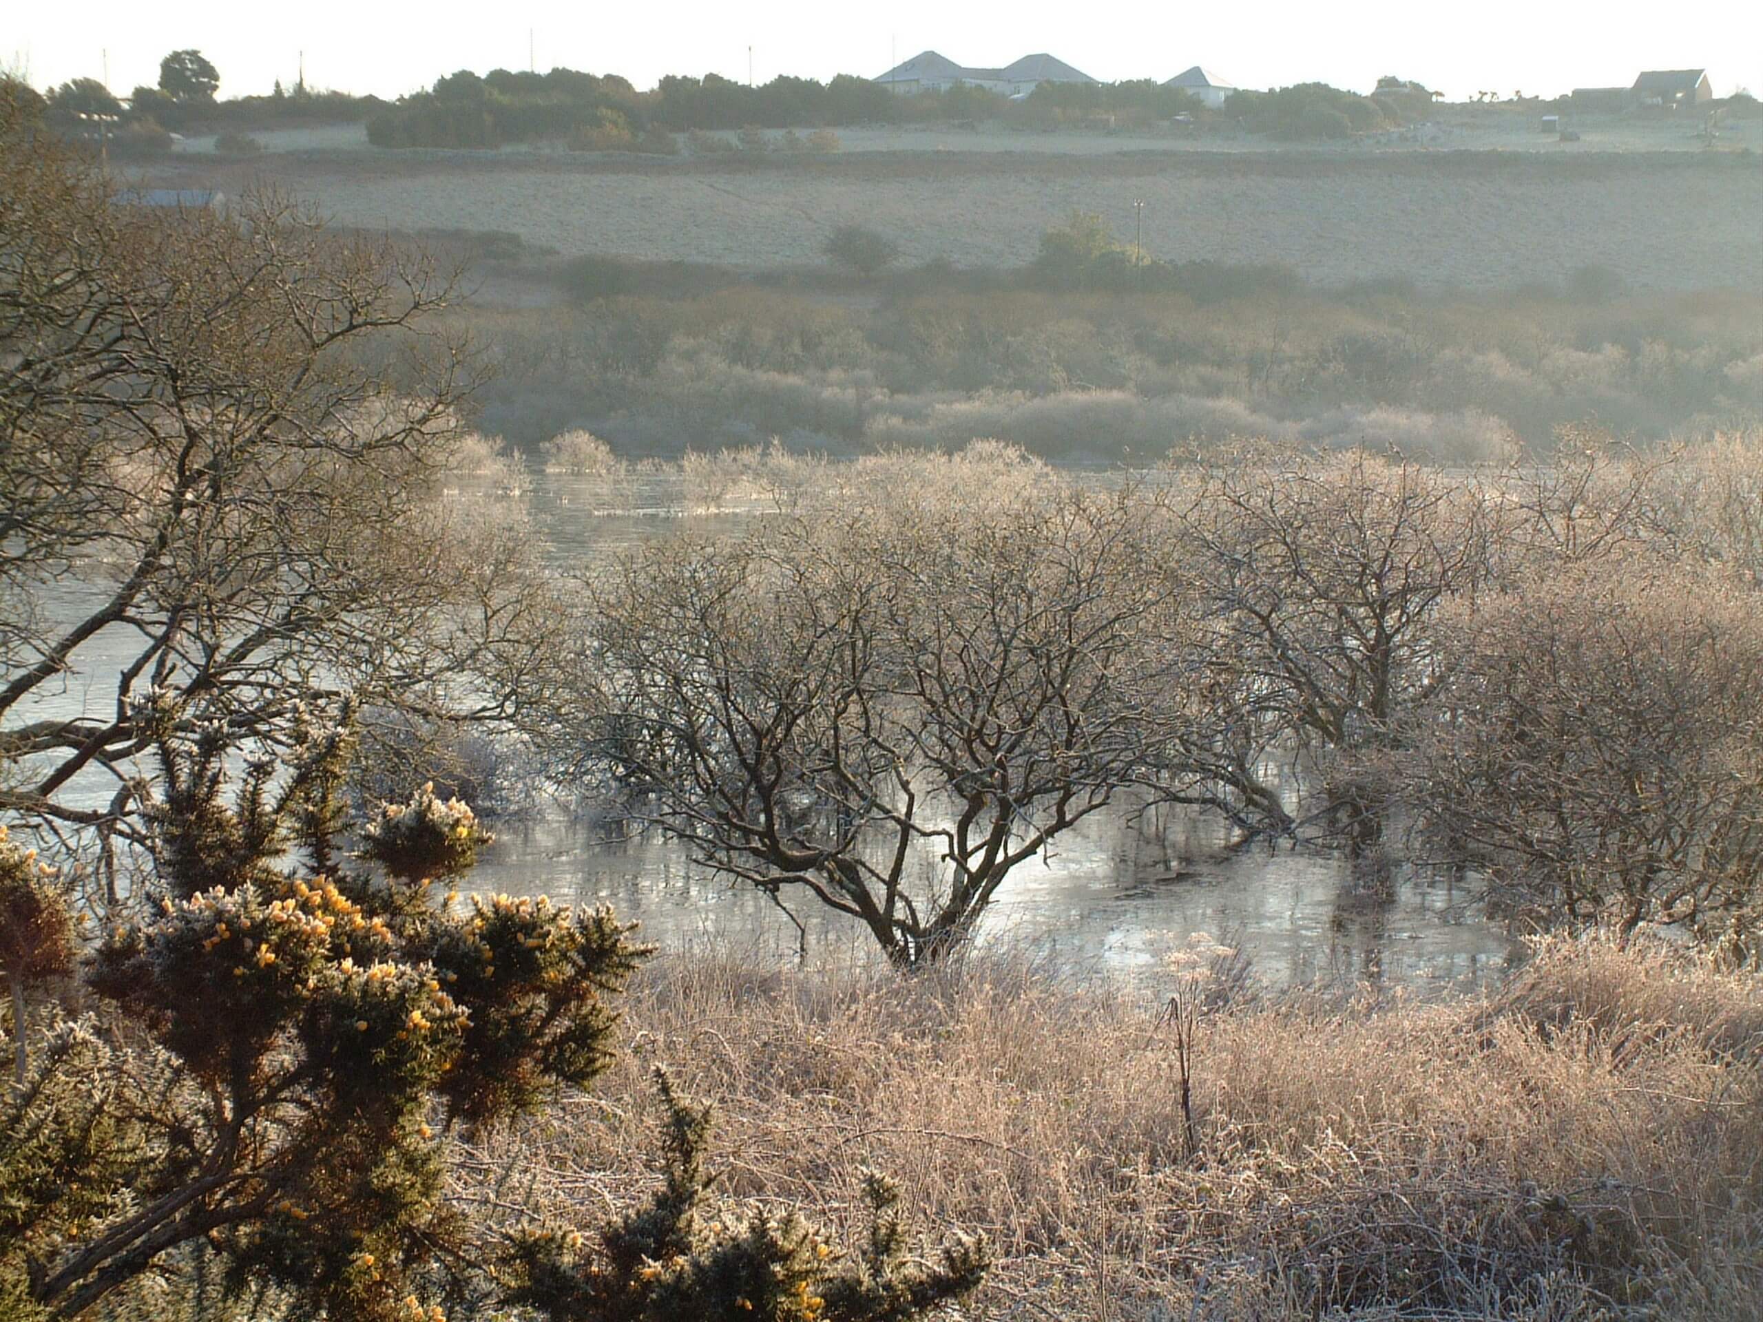
{"type": "Polygon", "coordinates": [[[1421,296],[1245,282],[1045,293],[910,271],[880,308],[635,273],[591,308],[465,316],[502,381],[485,427],[522,446],[587,427],[624,455],[770,435],[843,453],[1015,441],[1044,458],[1269,435],[1463,464],[1562,425],[1689,437],[1763,414],[1756,300],[1550,291],[1421,296]],[[980,286],[980,287],[973,287],[980,286]]]}

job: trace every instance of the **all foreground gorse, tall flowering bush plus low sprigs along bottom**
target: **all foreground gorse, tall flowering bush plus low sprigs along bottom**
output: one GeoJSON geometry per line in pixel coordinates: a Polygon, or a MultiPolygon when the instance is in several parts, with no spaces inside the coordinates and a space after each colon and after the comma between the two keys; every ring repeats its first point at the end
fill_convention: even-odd
{"type": "MultiPolygon", "coordinates": [[[[141,913],[86,961],[100,1008],[41,1031],[32,1072],[0,1107],[9,1317],[141,1303],[197,1260],[219,1264],[229,1296],[365,1322],[430,1322],[453,1304],[474,1315],[497,1299],[592,1322],[677,1317],[668,1301],[686,1280],[703,1317],[809,1318],[820,1301],[857,1297],[839,1294],[844,1269],[793,1222],[691,1225],[707,1185],[703,1114],[670,1089],[665,1190],[601,1232],[621,1248],[594,1271],[569,1278],[547,1259],[545,1244],[568,1250],[578,1230],[474,1230],[446,1199],[443,1130],[485,1132],[599,1075],[608,998],[643,950],[603,910],[437,899],[487,837],[427,788],[361,834],[383,874],[347,867],[347,723],[314,726],[287,767],[252,763],[231,798],[219,728],[189,732],[169,707],[152,723],[167,790],[141,913]],[[767,1292],[772,1278],[788,1289],[767,1292]]],[[[35,862],[0,850],[7,969],[65,966],[65,917],[19,924],[11,874],[35,862]]],[[[966,1292],[980,1269],[966,1243],[934,1269],[892,1251],[864,1276],[892,1311],[825,1315],[908,1317],[966,1292]]]]}

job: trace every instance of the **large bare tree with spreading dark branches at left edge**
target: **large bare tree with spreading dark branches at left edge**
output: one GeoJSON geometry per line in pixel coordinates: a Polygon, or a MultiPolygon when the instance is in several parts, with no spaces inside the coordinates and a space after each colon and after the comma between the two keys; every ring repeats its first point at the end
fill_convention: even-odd
{"type": "Polygon", "coordinates": [[[0,108],[0,811],[134,834],[152,691],[238,744],[510,710],[543,583],[443,499],[453,289],[273,196],[122,204],[0,108]]]}

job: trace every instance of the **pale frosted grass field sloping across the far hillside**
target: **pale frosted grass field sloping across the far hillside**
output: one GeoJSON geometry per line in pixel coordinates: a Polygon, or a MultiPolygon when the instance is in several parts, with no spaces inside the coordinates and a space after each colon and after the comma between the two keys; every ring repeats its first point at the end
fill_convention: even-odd
{"type": "Polygon", "coordinates": [[[1097,212],[1171,261],[1283,263],[1312,280],[1402,275],[1499,289],[1611,266],[1641,289],[1763,280],[1763,160],[1504,152],[862,152],[642,160],[566,153],[180,157],[157,173],[272,180],[342,224],[502,229],[562,254],[767,268],[866,224],[908,263],[1017,264],[1097,212]]]}

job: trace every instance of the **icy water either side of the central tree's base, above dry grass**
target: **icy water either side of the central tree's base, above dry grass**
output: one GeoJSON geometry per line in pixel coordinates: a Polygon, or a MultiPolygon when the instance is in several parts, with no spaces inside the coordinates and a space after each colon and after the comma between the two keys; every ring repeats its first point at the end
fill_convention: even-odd
{"type": "MultiPolygon", "coordinates": [[[[1467,987],[1514,966],[1521,947],[1486,924],[1444,873],[1366,883],[1338,858],[1289,850],[1220,853],[1192,818],[1097,814],[1010,874],[978,940],[1010,941],[1061,968],[1153,977],[1192,932],[1241,940],[1275,987],[1370,982],[1416,991],[1467,987]]],[[[517,825],[485,851],[487,890],[610,904],[666,950],[737,947],[795,959],[797,931],[758,890],[691,864],[658,832],[619,823],[517,825]]],[[[785,892],[785,901],[792,901],[785,892]]],[[[809,962],[876,959],[867,931],[802,894],[809,962]]]]}

